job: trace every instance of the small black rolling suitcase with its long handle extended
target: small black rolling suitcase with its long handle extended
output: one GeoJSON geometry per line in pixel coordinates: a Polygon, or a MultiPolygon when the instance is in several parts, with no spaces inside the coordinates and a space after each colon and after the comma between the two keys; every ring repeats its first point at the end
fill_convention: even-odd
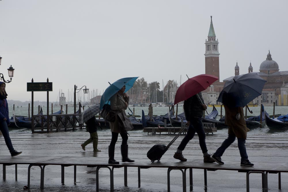
{"type": "Polygon", "coordinates": [[[162,155],[168,150],[168,148],[173,144],[173,142],[180,136],[180,134],[185,130],[186,127],[183,127],[179,133],[172,139],[172,141],[166,145],[154,145],[151,149],[147,152],[147,157],[153,163],[154,161],[160,161],[162,155]]]}

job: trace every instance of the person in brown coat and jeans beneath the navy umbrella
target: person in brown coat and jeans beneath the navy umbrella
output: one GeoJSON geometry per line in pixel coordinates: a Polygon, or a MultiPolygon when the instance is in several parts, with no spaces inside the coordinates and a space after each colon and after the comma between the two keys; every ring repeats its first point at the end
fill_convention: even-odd
{"type": "Polygon", "coordinates": [[[238,149],[241,156],[241,166],[254,166],[249,160],[246,152],[245,140],[247,132],[250,131],[246,127],[244,119],[243,107],[235,107],[237,96],[230,93],[223,93],[223,104],[225,108],[225,124],[228,128],[228,138],[222,143],[221,147],[212,155],[211,159],[215,160],[218,164],[223,165],[221,156],[224,151],[234,142],[237,137],[238,149]]]}

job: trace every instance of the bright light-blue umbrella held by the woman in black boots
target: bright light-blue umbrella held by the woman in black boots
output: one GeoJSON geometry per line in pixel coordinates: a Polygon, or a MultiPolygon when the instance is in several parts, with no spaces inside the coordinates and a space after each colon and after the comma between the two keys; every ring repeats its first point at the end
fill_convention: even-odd
{"type": "Polygon", "coordinates": [[[104,104],[109,104],[109,99],[117,93],[124,85],[126,85],[125,92],[133,87],[134,82],[138,77],[125,77],[122,79],[118,79],[114,83],[112,83],[105,92],[103,93],[101,100],[100,100],[100,110],[103,108],[104,104]]]}

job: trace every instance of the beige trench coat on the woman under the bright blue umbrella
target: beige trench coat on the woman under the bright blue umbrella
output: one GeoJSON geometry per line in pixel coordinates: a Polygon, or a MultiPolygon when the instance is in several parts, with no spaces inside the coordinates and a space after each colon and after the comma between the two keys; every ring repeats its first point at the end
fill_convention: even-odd
{"type": "Polygon", "coordinates": [[[118,126],[117,115],[119,115],[120,117],[124,115],[124,118],[126,117],[126,119],[128,119],[125,113],[125,110],[127,109],[125,102],[119,97],[122,97],[124,101],[129,103],[129,97],[122,96],[118,92],[115,95],[113,95],[110,99],[111,110],[116,111],[116,118],[114,122],[109,122],[109,125],[110,125],[111,132],[116,132],[116,133],[121,133],[119,126],[118,126]]]}

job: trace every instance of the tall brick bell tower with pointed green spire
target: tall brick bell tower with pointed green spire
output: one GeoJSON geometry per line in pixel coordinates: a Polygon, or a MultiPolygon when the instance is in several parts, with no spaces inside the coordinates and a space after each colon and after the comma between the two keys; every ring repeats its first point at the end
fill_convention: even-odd
{"type": "MultiPolygon", "coordinates": [[[[215,75],[219,78],[219,52],[218,52],[218,39],[212,23],[212,16],[210,22],[210,28],[208,33],[208,41],[205,41],[205,74],[215,75]]],[[[220,78],[219,78],[220,79],[220,78]]],[[[219,82],[219,79],[215,82],[219,82]]]]}

